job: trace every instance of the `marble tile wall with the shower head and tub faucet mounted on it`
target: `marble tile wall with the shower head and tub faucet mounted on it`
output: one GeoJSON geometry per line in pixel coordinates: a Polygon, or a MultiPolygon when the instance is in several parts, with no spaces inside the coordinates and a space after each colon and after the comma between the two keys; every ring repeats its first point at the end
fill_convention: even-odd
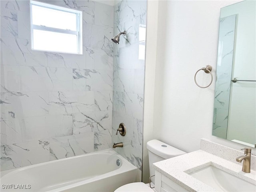
{"type": "Polygon", "coordinates": [[[144,103],[144,68],[146,8],[144,0],[122,0],[114,6],[114,36],[120,36],[114,44],[113,121],[112,143],[123,142],[123,148],[115,150],[142,170],[142,134],[144,103]],[[126,125],[126,135],[116,135],[120,123],[126,125]]]}

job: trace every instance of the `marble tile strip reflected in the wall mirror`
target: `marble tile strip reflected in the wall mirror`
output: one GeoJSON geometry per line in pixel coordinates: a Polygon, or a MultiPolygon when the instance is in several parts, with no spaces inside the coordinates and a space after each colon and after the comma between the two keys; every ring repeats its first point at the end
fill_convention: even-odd
{"type": "Polygon", "coordinates": [[[236,15],[220,18],[212,135],[226,139],[236,15]]]}

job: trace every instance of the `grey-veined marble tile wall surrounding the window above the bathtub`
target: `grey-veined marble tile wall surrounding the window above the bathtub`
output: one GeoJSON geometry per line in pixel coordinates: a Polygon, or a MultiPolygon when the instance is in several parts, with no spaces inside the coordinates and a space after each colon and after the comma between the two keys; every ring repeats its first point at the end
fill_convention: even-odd
{"type": "Polygon", "coordinates": [[[111,147],[113,6],[83,11],[83,55],[32,51],[28,0],[1,0],[1,170],[111,147]]]}

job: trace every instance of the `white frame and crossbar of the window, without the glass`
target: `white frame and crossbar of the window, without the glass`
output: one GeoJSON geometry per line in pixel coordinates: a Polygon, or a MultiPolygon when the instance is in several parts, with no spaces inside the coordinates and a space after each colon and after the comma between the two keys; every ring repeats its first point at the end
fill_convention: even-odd
{"type": "Polygon", "coordinates": [[[57,6],[53,4],[48,4],[48,3],[43,3],[43,2],[38,2],[34,0],[30,0],[30,35],[31,35],[31,49],[32,50],[37,50],[37,51],[44,51],[44,52],[58,52],[58,53],[68,53],[68,54],[80,54],[82,55],[83,52],[83,42],[82,42],[82,22],[83,22],[83,12],[75,9],[70,9],[70,8],[65,8],[62,6],[57,6]],[[35,6],[40,6],[44,8],[49,8],[53,10],[58,10],[58,11],[63,11],[63,12],[68,12],[68,13],[73,13],[76,14],[76,31],[73,30],[68,30],[68,29],[60,29],[60,28],[53,28],[53,27],[46,27],[46,26],[39,26],[39,25],[34,25],[33,24],[33,16],[32,16],[32,5],[35,6]],[[62,34],[73,34],[77,36],[77,50],[76,52],[61,52],[61,51],[50,51],[50,50],[38,50],[34,49],[34,35],[33,35],[33,30],[44,30],[44,31],[49,31],[49,32],[57,32],[57,33],[62,33],[62,34]]]}

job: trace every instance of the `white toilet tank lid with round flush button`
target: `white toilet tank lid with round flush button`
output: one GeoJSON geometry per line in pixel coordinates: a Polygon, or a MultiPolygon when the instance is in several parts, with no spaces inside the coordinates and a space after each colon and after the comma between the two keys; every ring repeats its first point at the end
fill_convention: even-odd
{"type": "Polygon", "coordinates": [[[186,152],[179,150],[175,147],[172,147],[172,146],[170,146],[164,142],[161,142],[159,140],[156,140],[156,139],[148,141],[147,148],[152,153],[154,153],[162,158],[165,158],[165,159],[186,154],[186,152]]]}

